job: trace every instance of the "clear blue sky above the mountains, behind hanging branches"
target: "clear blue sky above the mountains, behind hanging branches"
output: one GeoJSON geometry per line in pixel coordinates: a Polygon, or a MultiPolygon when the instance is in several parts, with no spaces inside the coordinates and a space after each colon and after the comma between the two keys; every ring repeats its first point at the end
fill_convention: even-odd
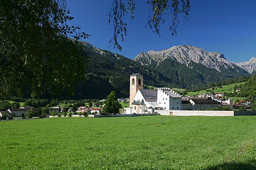
{"type": "Polygon", "coordinates": [[[113,25],[108,24],[107,14],[113,0],[68,0],[70,15],[75,17],[70,24],[81,26],[82,31],[91,35],[85,40],[88,43],[131,59],[141,52],[178,45],[221,52],[232,62],[256,57],[255,0],[190,0],[188,21],[183,22],[183,16],[180,16],[177,36],[171,35],[170,20],[166,17],[165,24],[161,25],[161,37],[145,28],[150,7],[147,0],[134,1],[134,20],[127,17],[127,36],[124,42],[119,40],[122,51],[109,47],[108,43],[113,36],[113,25]]]}

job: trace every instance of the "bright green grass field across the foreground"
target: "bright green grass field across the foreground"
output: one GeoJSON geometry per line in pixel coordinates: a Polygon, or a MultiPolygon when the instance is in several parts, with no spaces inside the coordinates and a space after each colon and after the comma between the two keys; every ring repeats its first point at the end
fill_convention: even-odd
{"type": "Polygon", "coordinates": [[[255,124],[256,116],[0,122],[0,169],[256,169],[255,124]]]}

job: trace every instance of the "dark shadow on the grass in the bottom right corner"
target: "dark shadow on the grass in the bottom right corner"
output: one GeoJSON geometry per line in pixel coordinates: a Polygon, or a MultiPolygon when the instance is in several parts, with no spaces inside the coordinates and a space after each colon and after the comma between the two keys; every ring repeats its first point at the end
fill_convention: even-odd
{"type": "Polygon", "coordinates": [[[230,163],[223,163],[220,165],[216,165],[213,167],[205,168],[205,170],[215,170],[215,169],[227,169],[227,170],[241,170],[241,169],[256,169],[256,160],[247,161],[245,163],[236,163],[236,162],[230,162],[230,163]]]}

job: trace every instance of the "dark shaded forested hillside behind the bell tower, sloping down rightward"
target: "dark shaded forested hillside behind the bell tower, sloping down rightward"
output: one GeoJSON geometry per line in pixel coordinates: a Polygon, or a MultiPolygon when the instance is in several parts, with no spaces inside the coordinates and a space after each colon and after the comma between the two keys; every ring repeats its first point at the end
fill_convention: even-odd
{"type": "Polygon", "coordinates": [[[76,99],[106,98],[111,91],[118,97],[129,97],[130,75],[140,72],[144,83],[151,86],[171,86],[171,80],[158,71],[141,66],[124,56],[100,50],[85,43],[87,78],[75,91],[76,99]]]}

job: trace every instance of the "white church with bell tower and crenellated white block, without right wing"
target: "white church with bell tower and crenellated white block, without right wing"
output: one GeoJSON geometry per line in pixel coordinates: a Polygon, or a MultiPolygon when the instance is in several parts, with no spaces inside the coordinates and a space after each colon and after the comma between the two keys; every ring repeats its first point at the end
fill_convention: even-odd
{"type": "Polygon", "coordinates": [[[181,110],[181,96],[170,88],[143,89],[143,76],[130,75],[130,107],[125,114],[148,114],[157,110],[181,110]]]}

